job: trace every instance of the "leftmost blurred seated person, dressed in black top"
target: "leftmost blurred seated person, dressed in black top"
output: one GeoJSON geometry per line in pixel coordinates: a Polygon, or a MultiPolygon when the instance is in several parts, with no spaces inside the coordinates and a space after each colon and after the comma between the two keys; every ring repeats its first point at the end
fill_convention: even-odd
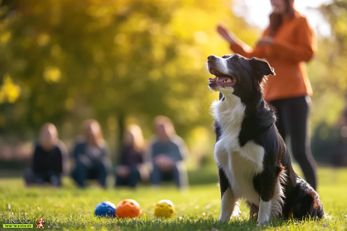
{"type": "Polygon", "coordinates": [[[24,173],[27,186],[44,185],[61,186],[61,175],[66,170],[66,146],[59,141],[58,131],[52,123],[41,127],[39,142],[35,144],[32,167],[24,173]]]}

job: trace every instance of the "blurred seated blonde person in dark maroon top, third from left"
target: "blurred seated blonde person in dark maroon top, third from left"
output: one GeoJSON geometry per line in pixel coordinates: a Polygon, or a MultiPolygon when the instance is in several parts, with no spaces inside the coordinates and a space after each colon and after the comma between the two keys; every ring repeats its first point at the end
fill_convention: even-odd
{"type": "Polygon", "coordinates": [[[148,174],[143,166],[143,149],[144,139],[141,128],[130,125],[126,130],[119,165],[116,167],[116,187],[135,188],[141,179],[147,178],[148,174]]]}

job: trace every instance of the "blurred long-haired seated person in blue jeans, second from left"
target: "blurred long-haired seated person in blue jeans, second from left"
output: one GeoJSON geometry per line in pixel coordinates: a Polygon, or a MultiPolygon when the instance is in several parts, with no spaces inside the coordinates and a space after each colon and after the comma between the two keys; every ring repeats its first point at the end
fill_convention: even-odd
{"type": "Polygon", "coordinates": [[[111,166],[108,144],[103,139],[98,121],[88,119],[84,122],[83,128],[84,137],[82,141],[76,142],[73,151],[75,169],[72,177],[79,187],[85,187],[86,180],[96,180],[105,188],[111,166]]]}

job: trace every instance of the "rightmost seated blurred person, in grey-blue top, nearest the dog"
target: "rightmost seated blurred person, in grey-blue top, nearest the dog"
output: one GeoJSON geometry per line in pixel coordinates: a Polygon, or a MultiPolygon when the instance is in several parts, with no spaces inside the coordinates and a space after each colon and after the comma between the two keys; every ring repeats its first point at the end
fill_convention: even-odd
{"type": "Polygon", "coordinates": [[[176,135],[171,119],[166,116],[155,117],[154,127],[156,135],[152,137],[147,153],[147,161],[152,168],[152,186],[157,188],[162,180],[173,180],[179,189],[187,188],[184,160],[188,156],[188,149],[184,140],[176,135]]]}

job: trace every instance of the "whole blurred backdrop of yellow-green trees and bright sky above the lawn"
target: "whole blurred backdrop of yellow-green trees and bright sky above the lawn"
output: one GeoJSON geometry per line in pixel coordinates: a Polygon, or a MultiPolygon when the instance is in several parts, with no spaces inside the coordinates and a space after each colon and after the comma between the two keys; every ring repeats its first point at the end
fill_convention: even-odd
{"type": "MultiPolygon", "coordinates": [[[[54,123],[68,148],[84,119],[102,125],[114,164],[124,127],[148,138],[152,119],[174,121],[190,170],[213,163],[207,89],[210,54],[230,53],[222,22],[249,45],[268,24],[268,0],[0,0],[0,168],[27,165],[40,126],[54,123]]],[[[312,151],[347,165],[347,1],[296,0],[319,41],[308,64],[312,151]],[[343,146],[343,145],[342,145],[343,146]],[[342,150],[342,151],[341,151],[342,150]]]]}

